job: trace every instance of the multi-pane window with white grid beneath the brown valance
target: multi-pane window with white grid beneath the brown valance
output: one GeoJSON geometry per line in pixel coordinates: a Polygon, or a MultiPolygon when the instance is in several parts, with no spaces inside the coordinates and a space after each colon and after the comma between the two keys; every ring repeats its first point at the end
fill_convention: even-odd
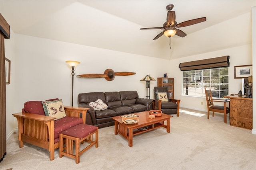
{"type": "Polygon", "coordinates": [[[204,87],[212,90],[212,97],[228,95],[228,67],[183,71],[183,96],[204,97],[204,87]]]}

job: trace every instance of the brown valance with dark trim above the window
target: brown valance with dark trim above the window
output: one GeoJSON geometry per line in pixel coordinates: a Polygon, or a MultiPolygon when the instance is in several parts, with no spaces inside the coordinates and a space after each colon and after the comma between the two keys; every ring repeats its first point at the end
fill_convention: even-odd
{"type": "Polygon", "coordinates": [[[179,65],[181,71],[218,68],[218,67],[225,67],[225,66],[229,66],[229,55],[216,57],[212,59],[190,61],[186,63],[180,63],[179,65]]]}

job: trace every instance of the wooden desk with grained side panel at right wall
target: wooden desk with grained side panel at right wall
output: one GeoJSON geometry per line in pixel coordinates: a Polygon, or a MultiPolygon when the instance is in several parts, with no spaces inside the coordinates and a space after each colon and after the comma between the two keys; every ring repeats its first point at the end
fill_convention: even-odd
{"type": "Polygon", "coordinates": [[[246,98],[245,95],[225,98],[230,98],[230,125],[252,129],[252,98],[246,98]]]}

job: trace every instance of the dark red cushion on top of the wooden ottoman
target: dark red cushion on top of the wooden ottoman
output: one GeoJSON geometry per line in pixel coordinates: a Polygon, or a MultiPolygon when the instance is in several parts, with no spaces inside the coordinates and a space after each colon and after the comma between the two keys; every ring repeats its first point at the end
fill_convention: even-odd
{"type": "Polygon", "coordinates": [[[70,129],[66,129],[66,131],[63,131],[62,133],[64,135],[72,136],[72,137],[79,137],[80,139],[86,137],[87,135],[95,132],[97,130],[96,126],[93,125],[86,125],[86,124],[80,124],[76,125],[70,129]]]}

